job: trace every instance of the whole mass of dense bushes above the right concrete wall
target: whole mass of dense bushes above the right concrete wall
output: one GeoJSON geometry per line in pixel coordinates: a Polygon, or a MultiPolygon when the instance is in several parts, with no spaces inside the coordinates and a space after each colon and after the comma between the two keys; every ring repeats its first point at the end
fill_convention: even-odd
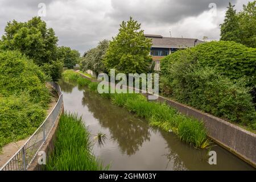
{"type": "Polygon", "coordinates": [[[161,63],[160,89],[184,104],[234,122],[253,123],[256,114],[256,49],[210,42],[178,51],[161,63]]]}

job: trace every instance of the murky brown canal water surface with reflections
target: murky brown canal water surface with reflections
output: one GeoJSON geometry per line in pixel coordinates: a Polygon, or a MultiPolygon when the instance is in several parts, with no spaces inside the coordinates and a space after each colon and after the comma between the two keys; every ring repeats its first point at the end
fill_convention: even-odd
{"type": "Polygon", "coordinates": [[[217,152],[217,165],[210,165],[207,150],[180,142],[86,88],[63,80],[59,84],[64,109],[82,115],[90,133],[106,134],[103,146],[94,141],[93,152],[110,170],[254,170],[217,144],[210,148],[217,152]]]}

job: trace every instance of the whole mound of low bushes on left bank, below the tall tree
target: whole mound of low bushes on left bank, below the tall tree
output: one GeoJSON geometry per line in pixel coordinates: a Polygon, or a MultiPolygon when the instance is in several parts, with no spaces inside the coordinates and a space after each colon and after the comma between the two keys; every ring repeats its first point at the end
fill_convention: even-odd
{"type": "Polygon", "coordinates": [[[34,133],[51,99],[47,76],[18,51],[0,51],[0,148],[34,133]]]}

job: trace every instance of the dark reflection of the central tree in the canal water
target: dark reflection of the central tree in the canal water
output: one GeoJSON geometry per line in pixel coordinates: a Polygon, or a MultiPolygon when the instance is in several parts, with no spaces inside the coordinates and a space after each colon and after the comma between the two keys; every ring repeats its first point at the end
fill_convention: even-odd
{"type": "Polygon", "coordinates": [[[102,127],[109,129],[112,139],[118,143],[122,153],[133,155],[143,142],[150,140],[147,123],[131,115],[126,109],[98,97],[96,93],[85,89],[82,105],[88,107],[102,127]]]}

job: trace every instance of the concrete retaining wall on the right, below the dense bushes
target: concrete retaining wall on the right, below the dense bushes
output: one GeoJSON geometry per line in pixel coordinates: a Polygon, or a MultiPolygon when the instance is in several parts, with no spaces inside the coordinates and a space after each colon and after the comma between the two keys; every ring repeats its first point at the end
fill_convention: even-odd
{"type": "Polygon", "coordinates": [[[256,134],[233,125],[213,115],[159,96],[158,101],[166,102],[180,113],[203,121],[208,136],[239,158],[256,167],[256,134]]]}

